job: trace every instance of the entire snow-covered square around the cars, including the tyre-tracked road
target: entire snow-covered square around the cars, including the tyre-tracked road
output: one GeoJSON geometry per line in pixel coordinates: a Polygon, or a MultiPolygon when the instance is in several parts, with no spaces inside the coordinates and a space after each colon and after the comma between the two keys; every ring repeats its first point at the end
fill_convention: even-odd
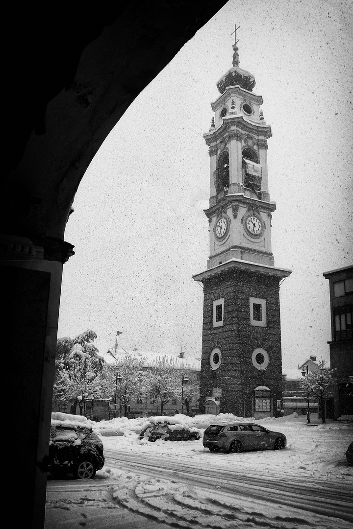
{"type": "Polygon", "coordinates": [[[71,529],[83,519],[94,529],[348,529],[353,467],[345,452],[353,424],[311,419],[315,426],[297,414],[259,421],[231,414],[88,421],[102,438],[105,466],[94,480],[49,481],[46,529],[71,529]],[[201,439],[140,440],[151,419],[197,428],[201,439]],[[203,448],[207,426],[242,421],[284,433],[286,448],[239,454],[203,448]]]}

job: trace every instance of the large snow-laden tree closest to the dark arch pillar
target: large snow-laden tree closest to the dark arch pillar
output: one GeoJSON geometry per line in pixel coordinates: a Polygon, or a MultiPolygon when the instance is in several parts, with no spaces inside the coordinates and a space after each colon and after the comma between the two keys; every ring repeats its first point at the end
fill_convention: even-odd
{"type": "Polygon", "coordinates": [[[104,398],[107,393],[104,361],[93,343],[95,338],[96,333],[88,330],[73,339],[65,337],[57,341],[53,402],[69,400],[74,414],[77,405],[82,414],[84,399],[104,398]]]}

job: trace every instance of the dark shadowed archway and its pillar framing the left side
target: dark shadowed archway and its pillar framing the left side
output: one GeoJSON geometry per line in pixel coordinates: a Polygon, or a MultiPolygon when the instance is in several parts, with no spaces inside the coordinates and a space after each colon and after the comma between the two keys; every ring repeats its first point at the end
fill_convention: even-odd
{"type": "Polygon", "coordinates": [[[225,3],[5,10],[0,248],[15,527],[44,527],[61,274],[74,253],[64,234],[80,180],[135,97],[225,3]]]}

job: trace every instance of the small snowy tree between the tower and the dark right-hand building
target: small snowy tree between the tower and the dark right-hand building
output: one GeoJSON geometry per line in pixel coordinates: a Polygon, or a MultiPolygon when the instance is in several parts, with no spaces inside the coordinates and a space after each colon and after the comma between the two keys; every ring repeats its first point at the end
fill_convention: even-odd
{"type": "Polygon", "coordinates": [[[334,388],[336,386],[334,369],[326,368],[326,364],[327,361],[321,358],[318,362],[319,370],[307,373],[307,375],[300,380],[300,385],[305,391],[306,397],[315,397],[319,400],[322,423],[326,422],[324,400],[333,396],[334,388]]]}

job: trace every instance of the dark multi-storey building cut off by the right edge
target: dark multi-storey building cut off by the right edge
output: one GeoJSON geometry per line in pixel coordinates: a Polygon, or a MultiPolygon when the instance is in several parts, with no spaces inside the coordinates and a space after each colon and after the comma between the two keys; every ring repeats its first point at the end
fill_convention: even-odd
{"type": "Polygon", "coordinates": [[[331,340],[330,366],[336,369],[333,417],[353,417],[353,266],[324,272],[329,280],[331,340]]]}

